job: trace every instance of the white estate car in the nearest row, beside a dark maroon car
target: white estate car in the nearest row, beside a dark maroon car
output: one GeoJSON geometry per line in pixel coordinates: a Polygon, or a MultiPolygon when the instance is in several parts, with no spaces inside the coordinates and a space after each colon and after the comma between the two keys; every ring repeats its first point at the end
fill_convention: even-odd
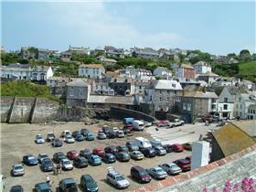
{"type": "Polygon", "coordinates": [[[119,172],[113,169],[113,167],[108,167],[107,181],[114,187],[122,189],[130,186],[129,181],[124,178],[119,172]]]}

